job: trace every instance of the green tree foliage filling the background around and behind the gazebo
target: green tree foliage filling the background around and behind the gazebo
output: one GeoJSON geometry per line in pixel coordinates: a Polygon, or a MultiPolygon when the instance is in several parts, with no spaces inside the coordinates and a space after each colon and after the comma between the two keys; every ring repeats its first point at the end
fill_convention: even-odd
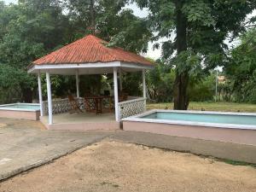
{"type": "MultiPolygon", "coordinates": [[[[193,101],[211,100],[211,70],[222,65],[229,79],[219,88],[227,93],[225,98],[235,94],[236,101],[256,102],[255,28],[241,37],[241,45],[229,56],[224,41],[246,31],[243,22],[253,9],[255,0],[20,0],[10,5],[0,1],[0,102],[14,102],[11,98],[31,102],[37,95],[37,80],[26,73],[26,67],[89,33],[110,41],[109,47],[120,46],[135,53],[146,52],[150,40],[164,38],[161,47],[154,45],[161,49],[162,58],[146,74],[148,94],[157,102],[172,102],[175,78],[182,73],[188,75],[187,90],[193,101]],[[123,9],[131,2],[147,8],[148,17],[141,19],[131,9],[123,9]],[[177,33],[178,11],[185,20],[183,44],[177,42],[181,35],[177,33]],[[183,49],[177,52],[181,45],[183,49]]],[[[252,24],[253,20],[255,17],[252,24]]],[[[74,77],[52,76],[51,80],[55,97],[75,92],[74,77]]],[[[44,81],[43,77],[46,96],[44,81]]],[[[130,95],[142,94],[141,73],[127,73],[123,81],[130,95]]],[[[102,82],[112,84],[102,76],[81,77],[81,95],[90,90],[88,84],[96,84],[90,92],[99,93],[102,82]]]]}

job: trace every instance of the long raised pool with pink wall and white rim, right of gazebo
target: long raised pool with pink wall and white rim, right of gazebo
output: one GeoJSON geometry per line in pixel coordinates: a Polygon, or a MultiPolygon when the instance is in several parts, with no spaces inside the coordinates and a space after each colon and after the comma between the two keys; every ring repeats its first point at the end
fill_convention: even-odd
{"type": "Polygon", "coordinates": [[[256,113],[156,109],[122,120],[125,131],[256,145],[256,113]]]}

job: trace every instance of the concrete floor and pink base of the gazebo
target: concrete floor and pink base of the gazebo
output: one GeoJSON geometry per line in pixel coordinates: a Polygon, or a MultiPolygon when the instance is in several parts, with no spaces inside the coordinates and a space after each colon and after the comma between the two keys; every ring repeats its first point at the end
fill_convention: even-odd
{"type": "Polygon", "coordinates": [[[114,113],[59,113],[53,115],[52,125],[48,125],[48,116],[40,119],[49,130],[118,130],[120,126],[114,113]]]}

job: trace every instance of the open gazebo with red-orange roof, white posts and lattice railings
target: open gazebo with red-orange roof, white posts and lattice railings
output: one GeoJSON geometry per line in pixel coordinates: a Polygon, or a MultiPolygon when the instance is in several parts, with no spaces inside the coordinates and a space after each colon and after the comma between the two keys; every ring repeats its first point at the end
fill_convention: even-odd
{"type": "MultiPolygon", "coordinates": [[[[124,49],[107,46],[108,42],[101,38],[96,38],[93,35],[85,36],[72,44],[67,44],[61,49],[57,49],[49,55],[45,55],[28,67],[28,73],[38,74],[38,95],[40,103],[41,119],[48,115],[47,127],[49,129],[62,129],[65,127],[59,122],[55,122],[53,114],[67,113],[68,100],[52,100],[50,75],[75,75],[76,76],[76,96],[78,102],[83,102],[83,98],[79,93],[79,75],[84,74],[107,74],[113,73],[113,98],[114,98],[114,112],[115,123],[118,123],[122,118],[142,113],[146,110],[146,82],[145,70],[152,69],[154,64],[148,61],[141,55],[136,55],[124,49]],[[119,102],[119,91],[122,90],[122,72],[142,72],[143,79],[143,96],[134,98],[131,97],[128,101],[119,102]],[[47,101],[43,101],[41,74],[46,74],[47,83],[47,101]],[[119,76],[119,87],[118,87],[119,76]],[[61,128],[62,127],[62,128],[61,128]]],[[[99,116],[99,118],[101,118],[99,116]]],[[[71,127],[76,120],[70,122],[67,127],[71,127]]],[[[83,124],[83,122],[79,122],[83,124]]],[[[100,129],[104,128],[106,122],[102,121],[102,125],[96,120],[96,124],[100,129]]],[[[95,127],[90,122],[91,127],[95,127]]],[[[84,122],[84,129],[90,129],[90,125],[84,122]],[[86,127],[87,126],[87,127],[86,127]]],[[[115,124],[117,125],[117,124],[115,124]]],[[[64,129],[69,129],[64,128],[64,129]]]]}

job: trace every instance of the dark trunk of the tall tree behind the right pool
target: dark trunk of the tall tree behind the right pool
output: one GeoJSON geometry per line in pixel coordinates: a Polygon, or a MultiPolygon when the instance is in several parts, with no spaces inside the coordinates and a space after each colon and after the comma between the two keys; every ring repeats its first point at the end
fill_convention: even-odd
{"type": "MultiPolygon", "coordinates": [[[[176,44],[177,44],[177,55],[187,50],[187,18],[182,13],[184,0],[176,1],[176,44]]],[[[179,63],[182,65],[182,63],[179,63]]],[[[189,107],[189,96],[188,96],[188,84],[189,74],[188,72],[178,73],[176,72],[176,78],[174,82],[173,95],[174,95],[174,109],[187,110],[189,107]]]]}

